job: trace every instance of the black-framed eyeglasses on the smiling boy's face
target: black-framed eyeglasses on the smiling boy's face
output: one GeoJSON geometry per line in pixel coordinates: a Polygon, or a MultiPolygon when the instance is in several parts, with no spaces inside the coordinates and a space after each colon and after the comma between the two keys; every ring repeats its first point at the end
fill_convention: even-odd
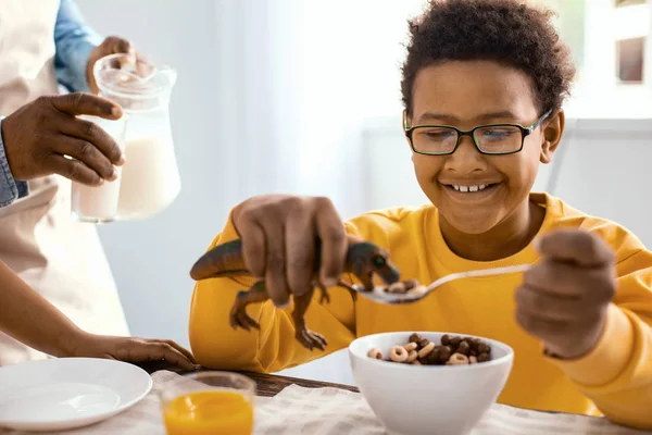
{"type": "Polygon", "coordinates": [[[509,123],[478,125],[468,130],[462,130],[451,125],[435,124],[408,127],[406,117],[404,117],[403,125],[412,150],[418,154],[452,154],[457,149],[462,136],[471,136],[480,153],[504,156],[519,152],[525,144],[525,138],[532,134],[551,113],[552,110],[543,113],[529,127],[509,123]]]}

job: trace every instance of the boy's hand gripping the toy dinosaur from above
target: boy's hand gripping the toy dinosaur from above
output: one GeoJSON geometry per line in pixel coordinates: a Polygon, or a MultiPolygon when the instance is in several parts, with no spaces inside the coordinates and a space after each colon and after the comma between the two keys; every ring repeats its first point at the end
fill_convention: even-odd
{"type": "MultiPolygon", "coordinates": [[[[321,239],[322,283],[331,286],[343,273],[347,256],[344,225],[327,198],[265,195],[237,206],[231,219],[242,240],[247,268],[265,278],[269,298],[277,307],[290,294],[302,295],[314,277],[315,238],[321,239]]],[[[210,276],[210,268],[196,278],[210,276]]]]}

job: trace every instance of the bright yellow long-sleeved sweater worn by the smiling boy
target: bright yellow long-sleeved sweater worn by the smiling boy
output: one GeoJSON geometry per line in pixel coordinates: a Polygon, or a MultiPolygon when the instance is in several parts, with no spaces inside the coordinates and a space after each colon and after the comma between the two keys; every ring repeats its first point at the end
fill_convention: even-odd
{"type": "MultiPolygon", "coordinates": [[[[475,334],[512,346],[514,366],[499,402],[522,408],[604,414],[615,422],[652,428],[652,253],[617,224],[584,214],[546,194],[531,194],[546,208],[540,234],[560,227],[602,236],[617,252],[618,290],[597,347],[578,360],[555,360],[514,320],[513,293],[519,274],[449,283],[426,299],[385,306],[365,298],[354,303],[347,290],[330,289],[330,303],[318,296],[309,308],[309,328],[328,339],[326,351],[309,351],[294,339],[289,313],[271,301],[248,307],[261,331],[234,331],[228,313],[236,293],[250,278],[213,278],[196,285],[190,345],[198,361],[222,370],[275,372],[346,348],[355,337],[387,331],[446,331],[475,334]]],[[[347,231],[390,252],[402,278],[430,283],[460,271],[535,263],[531,246],[510,258],[476,262],[455,256],[439,229],[432,206],[368,212],[346,222],[347,231]]],[[[229,220],[211,247],[237,238],[229,220]]],[[[315,293],[318,295],[318,291],[315,293]]]]}

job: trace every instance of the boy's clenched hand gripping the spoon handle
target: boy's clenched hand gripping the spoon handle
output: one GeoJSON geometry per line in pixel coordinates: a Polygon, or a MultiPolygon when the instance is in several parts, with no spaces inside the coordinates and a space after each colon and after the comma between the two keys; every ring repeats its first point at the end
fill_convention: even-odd
{"type": "Polygon", "coordinates": [[[565,229],[543,236],[539,252],[516,290],[516,321],[555,357],[582,357],[600,339],[616,293],[613,250],[598,236],[565,229]]]}

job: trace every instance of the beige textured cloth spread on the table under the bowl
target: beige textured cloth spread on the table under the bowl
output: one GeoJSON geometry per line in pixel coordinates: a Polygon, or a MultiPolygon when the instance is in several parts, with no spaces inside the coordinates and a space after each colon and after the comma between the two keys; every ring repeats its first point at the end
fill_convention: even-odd
{"type": "MultiPolygon", "coordinates": [[[[104,422],[75,431],[50,432],[61,435],[165,435],[156,388],[170,383],[196,381],[162,371],[152,375],[154,387],[139,403],[104,422]]],[[[651,410],[652,412],[652,410],[651,410]]],[[[358,393],[337,388],[304,388],[292,385],[276,397],[258,397],[256,435],[372,435],[385,434],[383,426],[358,393]]],[[[493,405],[472,435],[640,435],[641,432],[614,425],[605,419],[573,414],[551,414],[493,405]]],[[[0,430],[0,434],[23,434],[0,430]]]]}

